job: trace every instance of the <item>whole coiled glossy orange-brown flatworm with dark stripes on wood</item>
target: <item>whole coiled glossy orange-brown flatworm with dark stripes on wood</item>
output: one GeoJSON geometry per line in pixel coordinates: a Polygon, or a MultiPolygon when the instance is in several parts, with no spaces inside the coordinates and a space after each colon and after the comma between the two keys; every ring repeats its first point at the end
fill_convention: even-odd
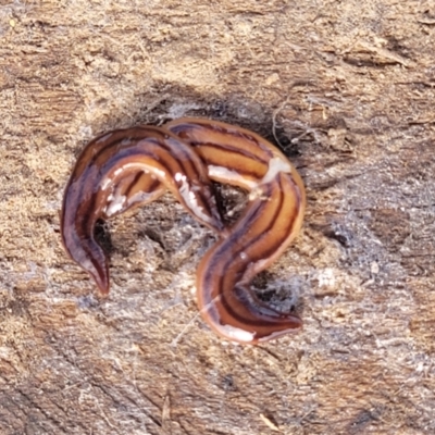
{"type": "Polygon", "coordinates": [[[94,239],[97,220],[150,202],[166,188],[223,236],[197,273],[198,306],[212,330],[232,341],[258,344],[299,328],[297,315],[266,306],[249,284],[300,229],[303,183],[269,141],[215,121],[182,119],[163,129],[116,130],[86,147],[66,188],[62,235],[72,258],[94,276],[100,290],[109,290],[109,272],[94,239]],[[229,231],[223,229],[209,178],[249,192],[246,210],[229,231]]]}

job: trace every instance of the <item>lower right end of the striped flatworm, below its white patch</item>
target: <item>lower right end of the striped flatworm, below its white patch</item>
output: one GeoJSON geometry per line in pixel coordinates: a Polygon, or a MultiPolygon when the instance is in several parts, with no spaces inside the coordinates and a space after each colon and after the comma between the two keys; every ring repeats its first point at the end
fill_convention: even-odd
{"type": "Polygon", "coordinates": [[[277,174],[261,187],[231,236],[217,241],[198,268],[198,306],[206,322],[221,336],[258,344],[299,330],[301,320],[261,301],[250,289],[254,275],[266,269],[299,229],[303,196],[289,174],[277,174]]]}

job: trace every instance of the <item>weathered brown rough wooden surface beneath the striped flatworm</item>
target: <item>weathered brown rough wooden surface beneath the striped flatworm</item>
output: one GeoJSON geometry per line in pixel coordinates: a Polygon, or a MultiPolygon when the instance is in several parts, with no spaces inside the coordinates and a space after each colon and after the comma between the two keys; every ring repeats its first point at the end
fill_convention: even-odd
{"type": "Polygon", "coordinates": [[[434,53],[431,1],[0,0],[0,433],[435,433],[434,53]],[[185,114],[300,170],[303,231],[257,286],[301,333],[209,331],[214,236],[170,195],[108,223],[108,299],[63,251],[85,144],[185,114]]]}

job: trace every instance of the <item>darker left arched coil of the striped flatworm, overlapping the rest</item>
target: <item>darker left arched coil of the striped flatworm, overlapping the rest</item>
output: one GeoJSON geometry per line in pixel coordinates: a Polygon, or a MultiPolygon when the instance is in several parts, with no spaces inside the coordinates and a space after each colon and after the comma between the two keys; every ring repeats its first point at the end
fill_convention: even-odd
{"type": "Polygon", "coordinates": [[[64,194],[62,241],[103,295],[109,293],[109,266],[95,239],[97,221],[150,202],[165,189],[198,221],[224,231],[207,169],[191,147],[169,130],[114,130],[90,141],[79,156],[64,194]]]}

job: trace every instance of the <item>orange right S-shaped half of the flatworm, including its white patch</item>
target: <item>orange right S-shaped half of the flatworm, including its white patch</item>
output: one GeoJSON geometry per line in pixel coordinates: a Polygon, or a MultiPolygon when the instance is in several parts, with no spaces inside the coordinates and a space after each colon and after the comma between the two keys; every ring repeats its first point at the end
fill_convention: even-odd
{"type": "Polygon", "coordinates": [[[197,119],[174,121],[165,128],[195,148],[211,179],[249,191],[249,203],[229,236],[199,264],[197,297],[204,321],[221,336],[243,344],[299,328],[297,315],[266,306],[249,286],[301,227],[306,197],[299,174],[272,144],[247,129],[197,119]]]}

